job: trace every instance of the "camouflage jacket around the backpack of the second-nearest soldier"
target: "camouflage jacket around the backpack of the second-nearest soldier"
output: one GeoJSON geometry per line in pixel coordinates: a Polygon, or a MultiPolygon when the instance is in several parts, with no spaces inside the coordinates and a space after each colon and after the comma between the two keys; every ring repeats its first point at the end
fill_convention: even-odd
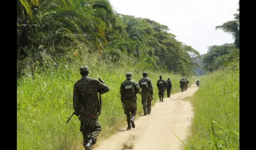
{"type": "Polygon", "coordinates": [[[139,88],[139,84],[136,82],[136,81],[133,81],[131,79],[126,79],[125,81],[123,81],[121,83],[121,86],[120,86],[120,95],[121,95],[121,98],[127,98],[127,96],[125,95],[125,86],[126,85],[133,85],[133,88],[134,88],[134,96],[133,98],[136,98],[137,99],[137,95],[140,91],[140,88],[139,88]]]}

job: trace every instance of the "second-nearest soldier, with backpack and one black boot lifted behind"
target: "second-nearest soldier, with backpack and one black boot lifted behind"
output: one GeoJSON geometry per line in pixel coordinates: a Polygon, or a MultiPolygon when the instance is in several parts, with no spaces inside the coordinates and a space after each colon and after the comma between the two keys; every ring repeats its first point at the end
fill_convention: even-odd
{"type": "Polygon", "coordinates": [[[123,103],[124,113],[126,114],[126,121],[128,123],[127,129],[135,128],[134,118],[137,111],[137,96],[139,93],[139,84],[136,81],[132,81],[132,73],[126,73],[126,80],[121,83],[120,95],[121,102],[123,103]],[[131,112],[131,114],[130,114],[131,112]],[[132,118],[131,118],[132,116],[132,118]]]}

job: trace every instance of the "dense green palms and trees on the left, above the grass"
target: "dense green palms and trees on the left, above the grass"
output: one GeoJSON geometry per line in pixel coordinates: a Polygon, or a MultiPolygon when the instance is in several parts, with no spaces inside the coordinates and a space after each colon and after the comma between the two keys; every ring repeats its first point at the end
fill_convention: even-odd
{"type": "Polygon", "coordinates": [[[182,44],[168,27],[121,15],[108,0],[17,0],[17,75],[36,61],[56,63],[89,52],[97,61],[195,75],[199,52],[182,44]],[[142,65],[143,64],[143,65],[142,65]]]}

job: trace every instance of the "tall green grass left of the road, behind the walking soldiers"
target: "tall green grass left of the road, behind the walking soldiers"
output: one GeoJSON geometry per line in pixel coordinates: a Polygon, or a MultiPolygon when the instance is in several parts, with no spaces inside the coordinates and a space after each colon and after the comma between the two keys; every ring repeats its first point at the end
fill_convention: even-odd
{"type": "MultiPolygon", "coordinates": [[[[88,58],[89,59],[89,58],[88,58]]],[[[73,116],[66,123],[67,117],[73,113],[73,85],[81,78],[79,64],[62,61],[57,67],[48,64],[48,68],[35,64],[33,76],[23,76],[17,80],[17,149],[83,149],[82,134],[79,131],[80,121],[73,116]],[[79,65],[78,65],[79,64],[79,65]]],[[[142,72],[147,71],[154,85],[154,101],[158,101],[156,82],[159,76],[170,77],[173,81],[173,93],[180,92],[181,76],[157,73],[151,70],[140,70],[139,67],[99,64],[88,61],[89,77],[101,77],[111,90],[102,95],[102,113],[99,116],[102,132],[98,140],[103,140],[126,126],[126,116],[120,101],[120,84],[126,72],[133,73],[133,80],[139,82],[142,72]],[[101,66],[101,67],[98,67],[101,66]]],[[[167,93],[165,93],[165,97],[167,93]]],[[[141,97],[138,94],[138,115],[142,114],[141,97]]],[[[156,112],[152,112],[156,113],[156,112]]],[[[137,117],[136,116],[136,117],[137,117]]]]}

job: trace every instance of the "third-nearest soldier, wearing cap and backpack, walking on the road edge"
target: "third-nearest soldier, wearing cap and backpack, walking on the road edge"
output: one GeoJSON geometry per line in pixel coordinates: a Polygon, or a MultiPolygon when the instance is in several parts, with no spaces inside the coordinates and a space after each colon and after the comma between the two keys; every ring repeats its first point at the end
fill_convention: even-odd
{"type": "Polygon", "coordinates": [[[141,102],[143,105],[144,116],[151,113],[151,96],[153,95],[153,85],[151,79],[149,79],[148,73],[142,73],[143,78],[139,80],[139,88],[141,88],[141,102]]]}

